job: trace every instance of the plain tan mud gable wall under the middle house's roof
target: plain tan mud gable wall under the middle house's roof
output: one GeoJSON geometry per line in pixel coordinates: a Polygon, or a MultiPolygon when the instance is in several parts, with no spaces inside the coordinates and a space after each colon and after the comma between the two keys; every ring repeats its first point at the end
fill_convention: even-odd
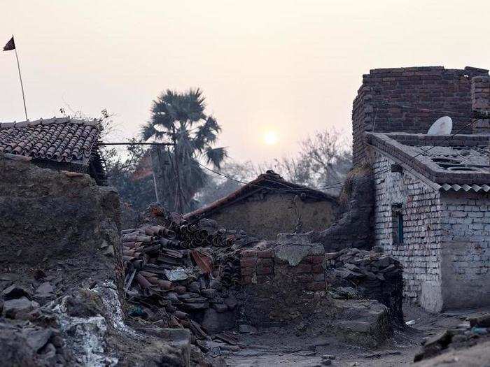
{"type": "MultiPolygon", "coordinates": [[[[244,230],[259,238],[275,240],[277,233],[295,231],[297,217],[291,207],[293,197],[292,194],[252,196],[206,217],[227,229],[244,230]]],[[[299,200],[297,208],[302,216],[303,231],[320,231],[335,219],[337,203],[299,200]]]]}

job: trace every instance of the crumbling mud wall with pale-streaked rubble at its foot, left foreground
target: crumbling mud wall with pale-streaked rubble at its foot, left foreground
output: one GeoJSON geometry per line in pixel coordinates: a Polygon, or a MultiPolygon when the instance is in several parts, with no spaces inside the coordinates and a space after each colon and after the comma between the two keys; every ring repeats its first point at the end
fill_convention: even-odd
{"type": "Polygon", "coordinates": [[[0,157],[3,362],[188,366],[188,330],[125,319],[117,192],[9,158],[0,157]]]}

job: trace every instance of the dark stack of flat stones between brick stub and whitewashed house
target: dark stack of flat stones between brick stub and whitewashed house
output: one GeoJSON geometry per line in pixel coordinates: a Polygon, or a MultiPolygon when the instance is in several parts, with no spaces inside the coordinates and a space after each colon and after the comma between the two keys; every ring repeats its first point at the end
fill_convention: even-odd
{"type": "Polygon", "coordinates": [[[325,254],[327,282],[334,298],[370,298],[383,303],[394,321],[403,322],[402,265],[374,251],[348,248],[325,254]]]}

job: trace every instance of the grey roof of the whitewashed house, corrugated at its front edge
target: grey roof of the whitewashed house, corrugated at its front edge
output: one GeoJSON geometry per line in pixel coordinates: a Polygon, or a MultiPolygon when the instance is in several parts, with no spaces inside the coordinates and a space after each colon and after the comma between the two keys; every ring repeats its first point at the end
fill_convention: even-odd
{"type": "Polygon", "coordinates": [[[366,133],[367,143],[448,190],[487,192],[490,135],[366,133]]]}

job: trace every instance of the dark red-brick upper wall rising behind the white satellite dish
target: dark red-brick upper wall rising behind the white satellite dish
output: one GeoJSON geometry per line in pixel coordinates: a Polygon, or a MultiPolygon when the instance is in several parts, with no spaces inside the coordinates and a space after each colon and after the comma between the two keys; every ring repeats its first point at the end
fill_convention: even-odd
{"type": "MultiPolygon", "coordinates": [[[[365,158],[363,132],[425,133],[442,115],[450,113],[424,112],[415,108],[380,106],[388,101],[403,106],[454,111],[454,129],[471,121],[471,78],[488,75],[484,69],[466,67],[444,69],[443,66],[423,66],[398,69],[374,69],[363,75],[363,84],[353,101],[353,163],[365,158]]],[[[461,134],[471,134],[469,126],[461,134]]]]}

